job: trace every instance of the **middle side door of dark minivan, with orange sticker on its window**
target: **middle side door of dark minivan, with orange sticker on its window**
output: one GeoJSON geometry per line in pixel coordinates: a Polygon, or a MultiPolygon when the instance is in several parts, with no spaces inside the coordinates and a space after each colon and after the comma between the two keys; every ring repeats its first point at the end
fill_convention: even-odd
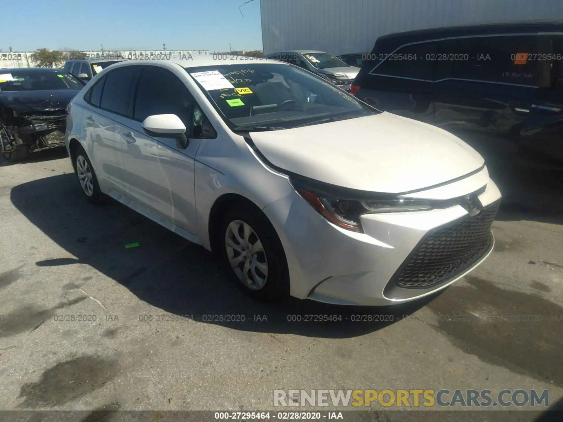
{"type": "Polygon", "coordinates": [[[435,124],[460,134],[485,155],[516,145],[538,89],[538,61],[520,57],[528,53],[537,53],[535,34],[441,42],[440,64],[435,67],[435,124]]]}

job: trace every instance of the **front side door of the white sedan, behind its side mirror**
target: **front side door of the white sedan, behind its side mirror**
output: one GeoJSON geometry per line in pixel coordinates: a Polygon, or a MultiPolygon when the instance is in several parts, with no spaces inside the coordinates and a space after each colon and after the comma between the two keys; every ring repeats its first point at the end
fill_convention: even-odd
{"type": "Polygon", "coordinates": [[[133,115],[122,131],[129,195],[151,212],[196,234],[194,158],[200,140],[191,130],[199,107],[184,82],[170,70],[156,65],[140,67],[133,115]],[[180,117],[189,138],[186,149],[175,139],[144,131],[143,120],[155,114],[180,117]]]}

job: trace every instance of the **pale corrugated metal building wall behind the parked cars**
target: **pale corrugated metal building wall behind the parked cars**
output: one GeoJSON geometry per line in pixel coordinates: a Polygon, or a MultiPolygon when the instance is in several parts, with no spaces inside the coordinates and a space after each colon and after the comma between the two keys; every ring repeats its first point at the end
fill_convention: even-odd
{"type": "Polygon", "coordinates": [[[394,32],[468,24],[563,20],[563,0],[261,0],[266,54],[369,52],[394,32]]]}

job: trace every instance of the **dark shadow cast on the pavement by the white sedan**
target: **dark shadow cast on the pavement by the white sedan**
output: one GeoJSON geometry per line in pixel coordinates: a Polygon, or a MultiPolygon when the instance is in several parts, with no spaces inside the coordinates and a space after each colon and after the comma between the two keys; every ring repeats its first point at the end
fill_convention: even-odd
{"type": "MultiPolygon", "coordinates": [[[[393,324],[436,296],[392,308],[333,306],[294,298],[261,303],[249,298],[215,256],[201,246],[117,202],[88,203],[74,174],[15,186],[11,201],[75,257],[43,257],[36,266],[87,264],[158,308],[146,318],[157,318],[153,315],[164,311],[236,330],[349,338],[393,324]],[[133,242],[138,246],[125,247],[133,242]]],[[[95,281],[91,280],[92,276],[84,274],[61,289],[80,289],[95,281]]],[[[108,309],[114,311],[120,313],[108,309]]]]}

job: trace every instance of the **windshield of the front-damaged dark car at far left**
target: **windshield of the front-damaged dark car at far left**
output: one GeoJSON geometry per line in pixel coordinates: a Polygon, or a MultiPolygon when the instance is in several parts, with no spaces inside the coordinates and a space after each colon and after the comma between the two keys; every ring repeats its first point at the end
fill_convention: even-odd
{"type": "Polygon", "coordinates": [[[84,84],[62,70],[0,70],[0,91],[82,89],[84,84]]]}

